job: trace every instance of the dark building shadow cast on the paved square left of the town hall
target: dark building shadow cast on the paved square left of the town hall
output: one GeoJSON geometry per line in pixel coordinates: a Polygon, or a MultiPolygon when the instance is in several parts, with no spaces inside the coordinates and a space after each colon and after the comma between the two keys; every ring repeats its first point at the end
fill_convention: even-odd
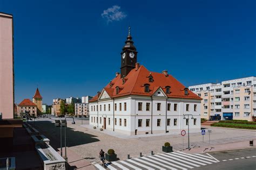
{"type": "MultiPolygon", "coordinates": [[[[33,126],[33,123],[31,123],[31,125],[33,126]]],[[[35,123],[35,128],[41,134],[44,134],[47,138],[50,139],[50,145],[53,148],[60,147],[60,127],[56,127],[55,123],[50,121],[37,121],[35,123]]],[[[62,147],[64,147],[65,145],[64,129],[65,127],[62,127],[62,147]]],[[[97,139],[96,137],[97,136],[94,136],[89,133],[76,131],[75,129],[70,128],[69,124],[66,127],[66,146],[67,147],[89,144],[89,143],[99,141],[99,139],[97,139]]]]}

